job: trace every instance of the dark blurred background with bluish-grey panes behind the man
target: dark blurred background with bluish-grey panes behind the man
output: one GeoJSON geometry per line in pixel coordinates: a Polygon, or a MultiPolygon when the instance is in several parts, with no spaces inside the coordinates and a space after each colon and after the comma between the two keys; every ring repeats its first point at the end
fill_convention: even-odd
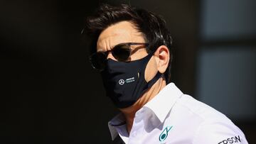
{"type": "Polygon", "coordinates": [[[80,35],[101,3],[163,16],[174,38],[172,82],[256,143],[254,0],[1,0],[0,143],[111,143],[107,121],[118,111],[80,35]]]}

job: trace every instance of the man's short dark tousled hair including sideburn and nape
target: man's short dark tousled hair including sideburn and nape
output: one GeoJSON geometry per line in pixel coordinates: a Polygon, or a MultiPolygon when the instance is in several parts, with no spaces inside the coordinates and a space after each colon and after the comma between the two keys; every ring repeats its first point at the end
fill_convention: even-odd
{"type": "Polygon", "coordinates": [[[147,52],[155,51],[160,45],[166,45],[169,48],[170,61],[169,66],[164,72],[166,82],[171,79],[171,34],[166,27],[166,22],[161,16],[151,13],[144,9],[137,9],[126,4],[120,6],[110,6],[102,4],[94,15],[87,17],[85,31],[92,38],[90,52],[96,52],[97,38],[107,27],[120,21],[130,21],[137,31],[144,34],[144,39],[149,46],[147,52]]]}

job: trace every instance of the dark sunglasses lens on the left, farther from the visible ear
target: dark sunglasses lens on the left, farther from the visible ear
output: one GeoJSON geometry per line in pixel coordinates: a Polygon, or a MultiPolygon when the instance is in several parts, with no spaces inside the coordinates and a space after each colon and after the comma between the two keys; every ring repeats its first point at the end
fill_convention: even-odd
{"type": "Polygon", "coordinates": [[[91,55],[90,62],[92,67],[97,70],[103,70],[106,66],[107,56],[103,52],[97,52],[91,55]]]}

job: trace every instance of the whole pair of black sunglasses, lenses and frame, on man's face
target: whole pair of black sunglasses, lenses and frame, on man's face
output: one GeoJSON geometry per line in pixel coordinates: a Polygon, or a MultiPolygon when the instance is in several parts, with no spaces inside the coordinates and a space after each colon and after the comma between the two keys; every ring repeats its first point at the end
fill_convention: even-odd
{"type": "Polygon", "coordinates": [[[129,61],[129,57],[132,53],[136,52],[139,48],[145,48],[148,43],[119,43],[115,45],[112,50],[107,50],[106,52],[95,52],[90,55],[89,59],[92,64],[92,67],[97,70],[104,70],[107,63],[107,55],[109,52],[112,53],[114,58],[119,62],[129,61]],[[137,47],[134,50],[131,50],[131,45],[143,45],[143,47],[137,47]]]}

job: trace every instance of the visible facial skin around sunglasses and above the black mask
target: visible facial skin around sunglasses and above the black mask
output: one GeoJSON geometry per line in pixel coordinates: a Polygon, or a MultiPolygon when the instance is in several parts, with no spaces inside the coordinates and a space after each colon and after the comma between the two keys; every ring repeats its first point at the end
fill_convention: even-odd
{"type": "MultiPolygon", "coordinates": [[[[129,21],[121,21],[108,28],[106,28],[97,40],[97,52],[106,52],[112,50],[115,45],[119,43],[145,43],[143,33],[137,31],[136,28],[129,21]]],[[[131,49],[134,50],[138,45],[131,45],[131,49]]],[[[139,48],[134,52],[130,60],[139,60],[145,57],[147,54],[146,48],[139,48]]],[[[107,55],[107,58],[115,60],[111,52],[107,55]]],[[[154,56],[149,60],[145,70],[145,79],[148,82],[156,74],[156,62],[154,56]]]]}

